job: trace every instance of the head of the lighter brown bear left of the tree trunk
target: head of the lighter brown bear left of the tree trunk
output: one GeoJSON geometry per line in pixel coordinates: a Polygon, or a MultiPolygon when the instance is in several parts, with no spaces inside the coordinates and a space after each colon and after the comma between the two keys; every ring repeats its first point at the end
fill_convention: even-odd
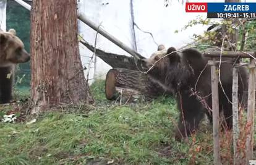
{"type": "Polygon", "coordinates": [[[0,49],[1,67],[30,60],[30,55],[25,51],[24,44],[20,38],[16,36],[14,29],[10,29],[9,32],[0,32],[0,49]]]}

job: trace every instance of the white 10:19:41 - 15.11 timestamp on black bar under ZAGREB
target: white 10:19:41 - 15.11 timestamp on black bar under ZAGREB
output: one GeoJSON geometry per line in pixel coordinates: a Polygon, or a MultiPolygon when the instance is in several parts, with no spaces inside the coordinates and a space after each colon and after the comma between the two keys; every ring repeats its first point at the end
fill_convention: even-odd
{"type": "Polygon", "coordinates": [[[256,19],[255,12],[208,12],[208,19],[256,19]]]}

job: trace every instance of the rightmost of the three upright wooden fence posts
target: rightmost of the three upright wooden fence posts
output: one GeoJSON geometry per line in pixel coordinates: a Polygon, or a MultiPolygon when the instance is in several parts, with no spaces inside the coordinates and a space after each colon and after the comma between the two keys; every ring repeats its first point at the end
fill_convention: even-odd
{"type": "Polygon", "coordinates": [[[254,111],[255,111],[255,59],[250,59],[249,64],[249,88],[247,109],[247,138],[246,138],[246,164],[252,160],[254,148],[254,111]]]}

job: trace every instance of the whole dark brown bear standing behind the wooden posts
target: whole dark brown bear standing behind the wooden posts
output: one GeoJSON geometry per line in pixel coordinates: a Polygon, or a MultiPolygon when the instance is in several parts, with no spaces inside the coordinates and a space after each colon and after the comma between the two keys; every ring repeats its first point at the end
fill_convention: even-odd
{"type": "MultiPolygon", "coordinates": [[[[148,75],[151,80],[176,95],[177,106],[180,111],[176,138],[180,140],[186,137],[186,133],[190,135],[197,129],[205,113],[212,121],[211,112],[207,109],[207,106],[211,108],[211,72],[210,66],[207,65],[207,57],[204,57],[197,50],[186,49],[181,53],[175,53],[175,51],[175,48],[169,48],[167,51],[169,55],[157,62],[148,72],[148,75]],[[203,104],[203,101],[205,101],[206,105],[205,103],[203,104]]],[[[163,54],[159,56],[156,53],[156,56],[145,59],[146,66],[150,68],[160,57],[163,57],[163,54]]],[[[226,60],[226,58],[223,58],[223,60],[226,60]]],[[[221,83],[230,101],[232,101],[232,67],[232,64],[223,63],[220,69],[221,83]]],[[[244,104],[245,99],[242,96],[244,91],[247,92],[248,74],[245,67],[239,67],[238,72],[239,103],[244,104]]],[[[220,84],[219,104],[220,111],[223,111],[226,125],[230,129],[233,122],[232,104],[229,103],[224,95],[220,84]]]]}

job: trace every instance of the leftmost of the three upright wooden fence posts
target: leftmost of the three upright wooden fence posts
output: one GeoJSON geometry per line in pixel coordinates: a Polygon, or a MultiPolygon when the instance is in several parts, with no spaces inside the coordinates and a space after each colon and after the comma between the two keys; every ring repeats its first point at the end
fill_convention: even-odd
{"type": "Polygon", "coordinates": [[[214,164],[220,165],[220,137],[219,137],[219,92],[218,92],[218,70],[216,70],[215,59],[208,61],[211,66],[211,99],[213,110],[213,157],[214,164]]]}

